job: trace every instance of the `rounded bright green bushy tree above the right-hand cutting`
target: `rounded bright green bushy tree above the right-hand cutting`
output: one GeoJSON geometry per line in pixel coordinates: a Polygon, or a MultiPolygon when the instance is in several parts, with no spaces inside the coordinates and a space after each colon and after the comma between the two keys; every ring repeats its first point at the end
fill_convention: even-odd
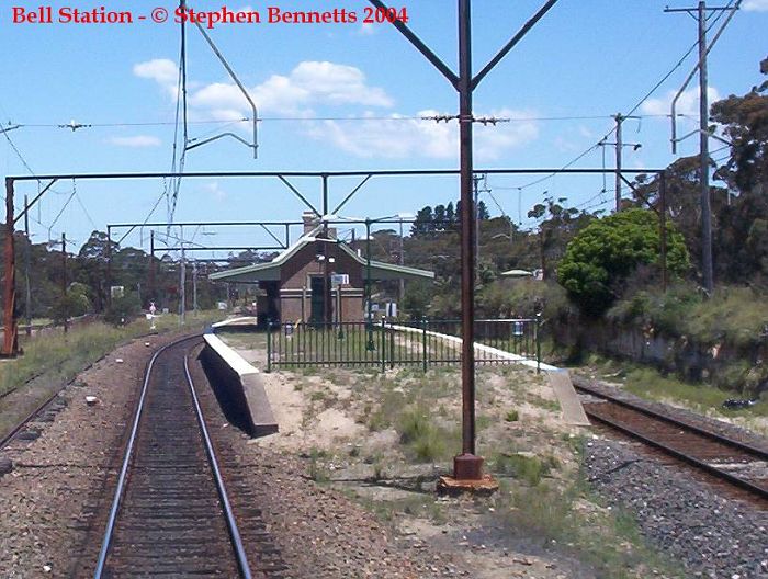
{"type": "MultiPolygon", "coordinates": [[[[600,316],[619,296],[619,287],[640,265],[657,264],[660,239],[658,217],[645,209],[626,209],[591,222],[568,243],[557,281],[579,309],[600,316]]],[[[682,274],[689,268],[680,232],[667,224],[667,270],[682,274]]]]}

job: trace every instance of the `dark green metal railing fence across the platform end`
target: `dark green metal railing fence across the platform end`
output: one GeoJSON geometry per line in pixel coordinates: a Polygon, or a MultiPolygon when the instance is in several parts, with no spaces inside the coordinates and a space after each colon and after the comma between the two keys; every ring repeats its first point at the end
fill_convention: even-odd
{"type": "MultiPolygon", "coordinates": [[[[537,319],[475,320],[475,363],[541,364],[537,319]]],[[[272,323],[267,332],[267,372],[301,366],[448,366],[461,363],[461,321],[272,323]]]]}

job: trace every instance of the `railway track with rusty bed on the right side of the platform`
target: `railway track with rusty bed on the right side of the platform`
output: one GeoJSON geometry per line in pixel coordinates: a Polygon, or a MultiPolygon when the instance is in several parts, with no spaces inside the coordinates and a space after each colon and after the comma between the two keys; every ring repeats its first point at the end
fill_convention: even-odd
{"type": "Polygon", "coordinates": [[[584,410],[589,418],[684,461],[707,474],[768,499],[768,452],[671,413],[640,406],[583,381],[577,391],[589,395],[584,410]]]}

